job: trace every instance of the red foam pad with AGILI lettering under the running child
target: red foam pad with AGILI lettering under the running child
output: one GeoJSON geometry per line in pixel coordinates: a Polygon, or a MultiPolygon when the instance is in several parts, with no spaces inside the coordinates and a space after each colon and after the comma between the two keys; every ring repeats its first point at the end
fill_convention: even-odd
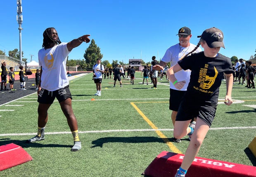
{"type": "MultiPolygon", "coordinates": [[[[161,152],[142,173],[147,177],[173,177],[184,154],[161,152]]],[[[256,167],[196,157],[187,170],[188,177],[256,177],[256,167]]]]}

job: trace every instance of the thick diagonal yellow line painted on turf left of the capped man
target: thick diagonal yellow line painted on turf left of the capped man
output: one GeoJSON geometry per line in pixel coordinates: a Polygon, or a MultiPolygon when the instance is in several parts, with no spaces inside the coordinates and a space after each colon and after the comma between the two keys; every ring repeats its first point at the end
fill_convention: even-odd
{"type": "MultiPolygon", "coordinates": [[[[137,112],[141,115],[141,117],[149,124],[149,126],[152,127],[152,129],[158,129],[146,116],[142,113],[142,111],[133,103],[131,102],[131,105],[137,110],[137,112]]],[[[178,154],[183,154],[177,147],[173,145],[170,141],[168,141],[168,138],[159,130],[155,131],[156,134],[164,140],[164,143],[168,145],[168,147],[174,152],[178,154]]]]}

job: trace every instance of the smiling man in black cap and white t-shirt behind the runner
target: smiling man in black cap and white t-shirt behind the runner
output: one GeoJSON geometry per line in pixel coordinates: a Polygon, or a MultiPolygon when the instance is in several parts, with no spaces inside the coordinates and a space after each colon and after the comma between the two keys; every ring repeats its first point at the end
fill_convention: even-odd
{"type": "MultiPolygon", "coordinates": [[[[179,43],[175,44],[174,46],[171,46],[166,50],[166,53],[159,62],[159,65],[154,66],[156,70],[163,70],[168,62],[171,62],[171,67],[174,66],[180,60],[180,58],[184,57],[187,53],[191,52],[196,47],[196,45],[190,43],[190,38],[192,37],[190,28],[184,26],[179,29],[178,34],[176,35],[178,35],[179,37],[179,43]]],[[[194,51],[194,53],[198,53],[201,51],[201,48],[197,48],[197,50],[194,51]]],[[[175,76],[179,80],[184,80],[185,82],[185,86],[181,90],[176,89],[174,87],[175,83],[170,82],[169,109],[172,110],[171,119],[173,122],[173,126],[175,124],[175,119],[178,113],[178,108],[180,106],[180,101],[183,95],[185,94],[185,91],[187,90],[188,83],[190,82],[190,72],[190,70],[181,70],[180,72],[175,73],[175,76]]],[[[192,126],[193,128],[194,124],[195,122],[192,122],[190,126],[192,126]]],[[[181,142],[180,139],[175,138],[173,138],[173,141],[175,143],[181,142]]]]}

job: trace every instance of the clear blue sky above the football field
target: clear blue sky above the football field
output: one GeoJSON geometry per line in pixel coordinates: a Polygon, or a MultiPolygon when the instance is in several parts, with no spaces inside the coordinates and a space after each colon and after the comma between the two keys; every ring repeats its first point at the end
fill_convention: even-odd
{"type": "MultiPolygon", "coordinates": [[[[102,60],[158,60],[178,43],[178,30],[192,30],[191,43],[211,27],[224,33],[220,53],[249,60],[256,49],[256,0],[22,0],[22,51],[38,61],[43,31],[55,27],[62,42],[90,34],[102,60]]],[[[1,0],[0,50],[19,50],[17,1],[1,0]]],[[[69,59],[83,59],[89,44],[74,48],[69,59]]],[[[8,54],[7,54],[8,55],[8,54]]]]}

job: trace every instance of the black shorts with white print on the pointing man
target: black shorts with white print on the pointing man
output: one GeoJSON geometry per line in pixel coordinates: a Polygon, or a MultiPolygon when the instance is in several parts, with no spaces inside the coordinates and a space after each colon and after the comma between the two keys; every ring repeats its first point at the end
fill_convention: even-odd
{"type": "Polygon", "coordinates": [[[52,104],[53,101],[55,100],[55,97],[57,98],[57,100],[60,102],[71,98],[71,93],[69,91],[69,85],[67,85],[64,88],[60,88],[58,90],[55,91],[48,91],[46,89],[41,88],[39,94],[38,94],[38,103],[43,103],[43,104],[52,104]]]}

